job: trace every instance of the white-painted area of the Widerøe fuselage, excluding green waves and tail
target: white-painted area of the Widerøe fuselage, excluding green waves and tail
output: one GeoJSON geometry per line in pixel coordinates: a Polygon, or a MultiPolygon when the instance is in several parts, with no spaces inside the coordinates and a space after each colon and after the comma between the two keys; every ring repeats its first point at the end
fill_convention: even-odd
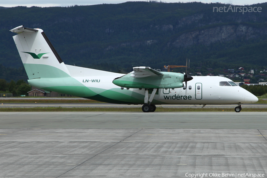
{"type": "MultiPolygon", "coordinates": [[[[121,87],[114,85],[112,81],[124,74],[94,70],[94,72],[91,72],[89,75],[90,77],[86,77],[88,76],[86,71],[92,71],[93,69],[80,68],[85,71],[77,71],[77,67],[75,67],[75,70],[73,71],[77,72],[77,75],[81,75],[82,72],[85,74],[83,77],[75,77],[75,74],[72,74],[71,72],[71,68],[74,66],[66,66],[69,69],[71,76],[86,87],[95,88],[95,90],[121,89],[121,87]]],[[[228,78],[218,76],[192,77],[193,80],[187,82],[187,90],[185,90],[185,88],[158,89],[153,104],[243,104],[258,101],[256,96],[240,86],[220,86],[220,82],[232,82],[232,80],[228,78]]],[[[120,91],[123,93],[125,90],[128,90],[127,93],[138,93],[143,97],[145,95],[145,89],[123,88],[123,90],[120,91]]]]}

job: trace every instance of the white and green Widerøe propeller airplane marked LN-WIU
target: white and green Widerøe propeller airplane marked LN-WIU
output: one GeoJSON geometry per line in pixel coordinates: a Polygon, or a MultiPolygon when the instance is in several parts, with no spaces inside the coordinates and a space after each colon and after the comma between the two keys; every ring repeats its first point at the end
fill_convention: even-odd
{"type": "MultiPolygon", "coordinates": [[[[129,74],[66,65],[39,28],[18,26],[10,30],[28,83],[44,90],[115,104],[141,104],[143,112],[154,112],[161,104],[237,104],[258,98],[232,80],[219,76],[189,76],[134,67],[129,74]]],[[[202,107],[202,108],[203,108],[202,107]]]]}

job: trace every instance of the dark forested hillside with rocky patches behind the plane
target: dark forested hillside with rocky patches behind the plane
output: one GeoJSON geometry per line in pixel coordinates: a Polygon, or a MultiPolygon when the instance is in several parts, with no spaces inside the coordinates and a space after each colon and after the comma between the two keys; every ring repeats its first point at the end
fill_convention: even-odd
{"type": "Polygon", "coordinates": [[[135,66],[185,65],[190,58],[192,71],[196,67],[265,69],[267,3],[246,6],[261,7],[261,12],[213,12],[214,7],[224,6],[230,4],[0,8],[0,78],[25,79],[12,39],[15,34],[9,32],[20,25],[42,28],[70,65],[129,72],[135,66]]]}

